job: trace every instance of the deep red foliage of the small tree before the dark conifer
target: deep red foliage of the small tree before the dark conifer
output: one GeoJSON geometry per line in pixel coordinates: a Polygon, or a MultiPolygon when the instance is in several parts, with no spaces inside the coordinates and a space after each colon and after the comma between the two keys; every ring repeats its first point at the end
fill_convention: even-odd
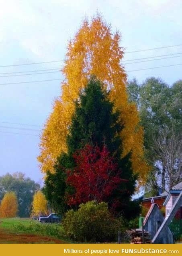
{"type": "Polygon", "coordinates": [[[67,172],[67,184],[75,189],[73,195],[67,197],[68,205],[76,205],[95,200],[107,201],[112,191],[123,179],[121,170],[106,146],[86,145],[74,155],[76,168],[67,172]]]}

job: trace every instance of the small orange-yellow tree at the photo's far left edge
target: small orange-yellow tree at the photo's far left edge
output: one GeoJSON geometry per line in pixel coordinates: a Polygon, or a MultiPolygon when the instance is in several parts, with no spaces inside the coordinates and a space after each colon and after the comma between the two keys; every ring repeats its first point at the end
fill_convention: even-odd
{"type": "Polygon", "coordinates": [[[0,204],[0,217],[12,218],[16,217],[18,212],[18,201],[14,192],[7,192],[0,204]]]}

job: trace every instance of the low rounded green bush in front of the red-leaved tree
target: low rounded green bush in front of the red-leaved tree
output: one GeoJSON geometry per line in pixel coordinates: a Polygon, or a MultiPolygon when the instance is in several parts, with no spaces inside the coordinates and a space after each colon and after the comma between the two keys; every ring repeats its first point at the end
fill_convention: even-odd
{"type": "Polygon", "coordinates": [[[78,211],[68,211],[62,223],[66,235],[81,242],[116,241],[122,229],[121,221],[112,217],[104,202],[81,204],[78,211]]]}

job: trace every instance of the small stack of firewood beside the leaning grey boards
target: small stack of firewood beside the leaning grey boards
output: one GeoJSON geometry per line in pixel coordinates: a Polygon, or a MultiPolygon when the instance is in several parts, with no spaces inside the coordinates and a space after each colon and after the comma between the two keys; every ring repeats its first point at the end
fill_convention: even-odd
{"type": "MultiPolygon", "coordinates": [[[[143,243],[142,230],[141,229],[131,229],[131,243],[143,243]]],[[[144,243],[151,243],[151,238],[149,232],[144,230],[144,243]]]]}

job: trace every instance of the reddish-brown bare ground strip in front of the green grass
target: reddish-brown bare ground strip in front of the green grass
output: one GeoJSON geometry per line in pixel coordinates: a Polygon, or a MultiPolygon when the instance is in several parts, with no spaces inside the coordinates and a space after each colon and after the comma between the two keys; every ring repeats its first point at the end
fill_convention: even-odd
{"type": "Polygon", "coordinates": [[[41,235],[8,233],[0,229],[0,243],[65,243],[65,241],[41,235]]]}

